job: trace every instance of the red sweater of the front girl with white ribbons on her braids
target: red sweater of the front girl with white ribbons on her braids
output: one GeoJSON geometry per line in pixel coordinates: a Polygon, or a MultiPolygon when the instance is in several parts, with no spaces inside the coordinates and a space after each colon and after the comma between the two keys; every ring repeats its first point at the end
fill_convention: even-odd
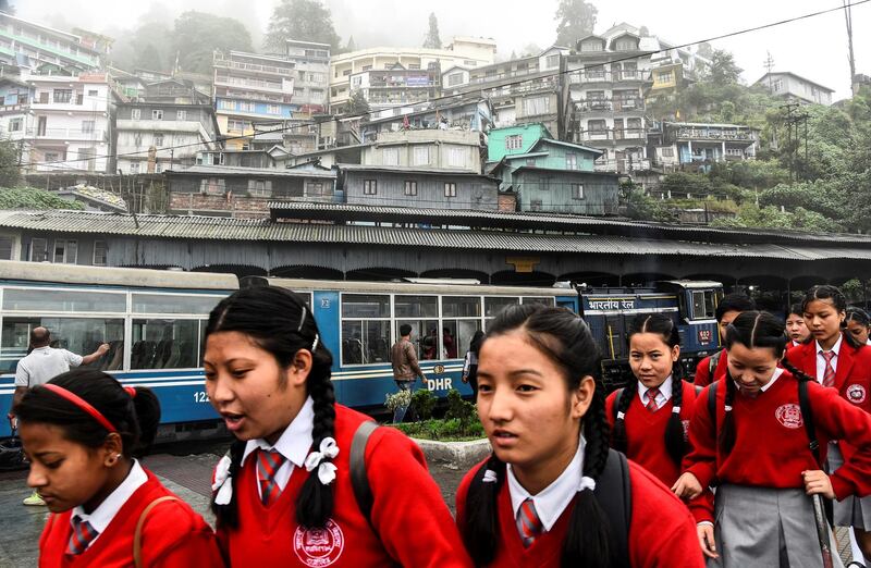
{"type": "Polygon", "coordinates": [[[323,530],[305,530],[296,522],[296,498],[309,476],[305,468],[295,467],[279,499],[266,507],[257,492],[257,460],[245,461],[234,487],[238,528],[218,526],[230,566],[471,566],[422,452],[392,428],[376,430],[366,446],[377,534],[372,531],[357,506],[348,461],[354,432],[365,420],[369,418],[335,405],[338,471],[333,514],[323,530]]]}

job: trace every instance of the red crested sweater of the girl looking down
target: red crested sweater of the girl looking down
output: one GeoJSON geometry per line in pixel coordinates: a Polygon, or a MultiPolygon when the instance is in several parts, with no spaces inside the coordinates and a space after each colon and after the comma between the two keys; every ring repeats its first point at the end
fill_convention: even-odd
{"type": "MultiPolygon", "coordinates": [[[[708,390],[699,393],[689,441],[692,449],[684,458],[689,471],[702,486],[715,479],[720,483],[761,487],[803,487],[801,472],[818,470],[817,457],[808,447],[808,435],[798,400],[798,381],[785,371],[777,381],[756,398],[741,395],[733,402],[735,446],[728,455],[720,452],[711,415],[708,412],[708,390]]],[[[716,388],[716,423],[722,429],[726,388],[716,388]]],[[[851,459],[831,476],[838,501],[848,495],[871,493],[871,415],[841,398],[834,388],[808,384],[808,396],[820,446],[829,440],[846,440],[858,448],[851,459]]],[[[713,503],[699,497],[690,502],[698,521],[713,520],[713,503]]]]}

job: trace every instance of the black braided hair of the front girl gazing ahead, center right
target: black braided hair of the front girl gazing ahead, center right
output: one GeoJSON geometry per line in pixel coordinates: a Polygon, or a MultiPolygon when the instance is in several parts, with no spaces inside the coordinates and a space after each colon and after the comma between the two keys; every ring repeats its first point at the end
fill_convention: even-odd
{"type": "MultiPolygon", "coordinates": [[[[598,480],[608,461],[609,427],[600,376],[601,355],[589,328],[565,308],[525,304],[505,308],[491,323],[487,337],[517,330],[523,331],[536,348],[564,370],[567,388],[578,388],[585,376],[592,376],[596,381],[592,400],[581,419],[586,439],[581,476],[598,480]]],[[[463,540],[478,566],[490,564],[500,545],[496,498],[505,477],[505,464],[493,453],[469,485],[466,497],[468,517],[463,527],[463,540]],[[484,481],[487,476],[493,474],[494,482],[484,481]]],[[[609,538],[605,515],[592,490],[579,491],[563,542],[561,565],[589,568],[611,566],[609,538]]]]}

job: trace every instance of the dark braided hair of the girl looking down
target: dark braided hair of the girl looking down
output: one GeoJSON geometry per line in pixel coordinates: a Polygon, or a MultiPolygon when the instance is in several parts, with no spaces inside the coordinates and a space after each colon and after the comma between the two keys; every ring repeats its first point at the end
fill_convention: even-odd
{"type": "MultiPolygon", "coordinates": [[[[810,376],[796,369],[783,355],[786,350],[788,338],[783,334],[784,323],[780,318],[765,311],[745,311],[726,328],[726,349],[732,349],[735,344],[741,344],[748,349],[770,348],[781,365],[798,381],[812,381],[810,376]]],[[[732,407],[738,387],[727,371],[725,379],[725,419],[720,431],[720,450],[725,455],[735,446],[735,418],[732,407]]]]}

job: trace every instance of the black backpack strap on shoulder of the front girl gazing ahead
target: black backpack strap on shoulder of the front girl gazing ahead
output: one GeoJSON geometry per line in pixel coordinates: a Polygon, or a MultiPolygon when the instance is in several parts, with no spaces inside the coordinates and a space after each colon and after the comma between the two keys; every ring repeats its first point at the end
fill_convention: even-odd
{"type": "Polygon", "coordinates": [[[608,450],[605,469],[596,482],[593,494],[611,528],[611,566],[630,568],[629,524],[633,519],[633,493],[626,456],[614,449],[608,450]]]}

